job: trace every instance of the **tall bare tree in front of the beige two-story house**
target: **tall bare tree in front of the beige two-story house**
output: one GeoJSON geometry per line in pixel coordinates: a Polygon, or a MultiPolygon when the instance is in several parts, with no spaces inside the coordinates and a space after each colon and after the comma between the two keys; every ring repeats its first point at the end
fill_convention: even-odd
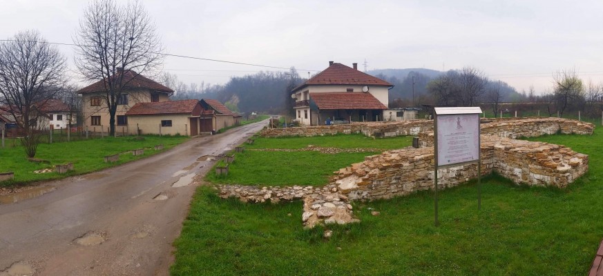
{"type": "Polygon", "coordinates": [[[104,83],[113,135],[119,96],[133,79],[124,77],[125,72],[149,75],[162,64],[155,25],[139,1],[118,6],[115,0],[95,0],[84,10],[73,40],[75,65],[84,79],[104,83]]]}

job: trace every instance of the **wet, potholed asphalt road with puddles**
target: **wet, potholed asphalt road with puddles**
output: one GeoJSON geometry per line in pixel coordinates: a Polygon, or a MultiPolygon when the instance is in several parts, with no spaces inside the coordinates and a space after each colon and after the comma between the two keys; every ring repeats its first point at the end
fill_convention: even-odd
{"type": "Polygon", "coordinates": [[[266,125],[196,137],[153,157],[44,184],[55,188],[39,197],[0,204],[0,275],[15,263],[35,275],[168,275],[172,242],[198,186],[188,184],[191,174],[213,164],[200,157],[231,150],[266,125]],[[77,239],[86,234],[104,242],[82,245],[77,239]]]}

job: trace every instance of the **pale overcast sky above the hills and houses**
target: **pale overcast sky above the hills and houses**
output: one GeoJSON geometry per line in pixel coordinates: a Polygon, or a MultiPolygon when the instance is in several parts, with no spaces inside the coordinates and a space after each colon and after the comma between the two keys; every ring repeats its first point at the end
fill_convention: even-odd
{"type": "MultiPolygon", "coordinates": [[[[474,66],[519,91],[550,89],[553,72],[568,68],[603,81],[601,0],[142,2],[166,52],[294,66],[302,77],[328,61],[363,69],[366,60],[369,70],[474,66]]],[[[0,38],[37,29],[48,41],[71,43],[87,5],[0,0],[0,38]]],[[[73,64],[73,49],[59,49],[73,64]]],[[[275,69],[167,57],[164,70],[207,84],[275,69]]]]}

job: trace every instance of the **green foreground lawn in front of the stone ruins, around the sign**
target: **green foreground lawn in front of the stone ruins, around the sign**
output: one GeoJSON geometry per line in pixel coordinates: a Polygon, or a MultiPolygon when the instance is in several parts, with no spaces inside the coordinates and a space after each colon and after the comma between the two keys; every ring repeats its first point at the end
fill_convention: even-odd
{"type": "MultiPolygon", "coordinates": [[[[569,188],[530,188],[501,177],[486,177],[482,210],[478,211],[472,181],[441,192],[439,227],[433,226],[429,192],[354,202],[354,214],[361,223],[329,226],[334,235],[327,240],[322,237],[325,228],[303,229],[300,201],[244,204],[220,199],[212,188],[200,187],[182,235],[175,241],[171,273],[586,275],[603,238],[600,131],[598,127],[593,136],[532,139],[563,144],[589,155],[590,171],[569,188]],[[372,216],[370,210],[381,215],[372,216]]],[[[289,140],[274,139],[274,143],[283,141],[289,140]]],[[[256,146],[264,142],[269,143],[258,139],[256,146]]],[[[323,163],[316,161],[297,174],[307,175],[320,165],[323,163]]]]}

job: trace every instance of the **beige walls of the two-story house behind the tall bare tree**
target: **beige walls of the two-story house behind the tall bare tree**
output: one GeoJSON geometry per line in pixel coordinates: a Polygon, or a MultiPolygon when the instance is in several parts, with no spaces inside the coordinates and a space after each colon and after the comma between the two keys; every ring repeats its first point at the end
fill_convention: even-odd
{"type": "MultiPolygon", "coordinates": [[[[128,95],[128,104],[126,105],[118,105],[117,112],[115,112],[115,126],[117,125],[117,116],[125,115],[128,110],[136,103],[149,103],[151,102],[151,90],[128,90],[123,94],[128,95]]],[[[101,121],[100,124],[103,126],[103,129],[106,131],[109,126],[109,111],[106,102],[104,99],[101,99],[100,106],[91,106],[91,99],[93,97],[103,97],[104,92],[94,92],[94,93],[84,93],[82,94],[82,103],[84,107],[82,108],[82,116],[84,118],[84,126],[88,126],[89,130],[92,130],[94,127],[100,128],[100,126],[93,126],[91,117],[92,116],[100,116],[101,121]]],[[[163,92],[157,92],[159,96],[159,101],[169,101],[169,96],[163,92]]],[[[130,123],[130,118],[128,117],[128,124],[130,123]]],[[[119,129],[119,128],[117,128],[119,129]]]]}

